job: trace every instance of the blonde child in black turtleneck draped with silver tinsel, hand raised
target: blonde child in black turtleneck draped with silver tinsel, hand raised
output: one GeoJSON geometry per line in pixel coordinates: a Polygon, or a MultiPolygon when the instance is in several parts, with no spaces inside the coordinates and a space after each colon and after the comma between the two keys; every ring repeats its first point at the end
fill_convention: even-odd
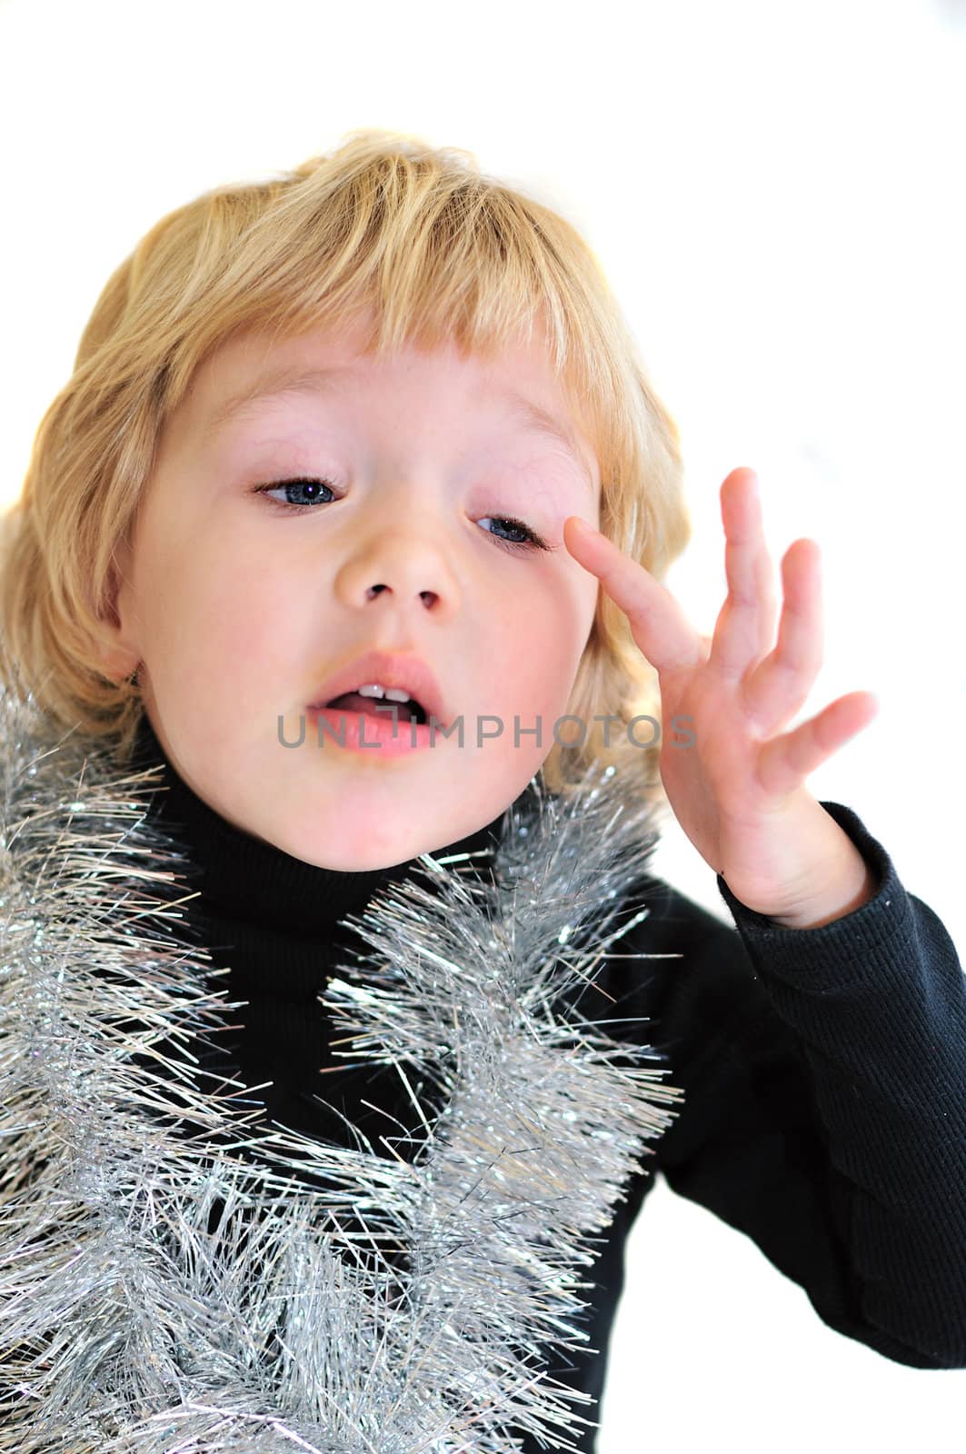
{"type": "Polygon", "coordinates": [[[6,522],[17,1448],[594,1450],[655,1169],[966,1367],[962,968],[806,787],[874,699],[783,733],[813,542],[771,650],[751,471],[722,512],[708,641],[595,259],[463,153],[359,134],[115,272],[6,522]]]}

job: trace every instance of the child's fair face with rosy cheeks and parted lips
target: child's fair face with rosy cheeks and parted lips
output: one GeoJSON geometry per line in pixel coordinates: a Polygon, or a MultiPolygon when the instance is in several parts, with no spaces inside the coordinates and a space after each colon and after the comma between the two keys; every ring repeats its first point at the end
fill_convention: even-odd
{"type": "Polygon", "coordinates": [[[598,592],[563,545],[569,515],[598,523],[598,461],[543,346],[487,368],[455,348],[375,361],[359,342],[246,334],[208,359],[160,441],[118,596],[116,660],[141,663],[180,776],[236,826],[342,871],[439,849],[522,792],[554,744],[598,592]],[[346,372],[215,427],[279,366],[346,372]],[[514,416],[505,388],[567,423],[579,455],[514,416]],[[255,493],[308,477],[329,489],[255,493]],[[505,545],[522,539],[508,516],[553,550],[505,545]],[[429,664],[463,746],[457,733],[393,756],[330,734],[317,746],[307,708],[374,648],[429,664]],[[290,743],[304,721],[301,746],[279,742],[279,717],[290,743]],[[503,731],[480,743],[487,717],[503,731]]]}

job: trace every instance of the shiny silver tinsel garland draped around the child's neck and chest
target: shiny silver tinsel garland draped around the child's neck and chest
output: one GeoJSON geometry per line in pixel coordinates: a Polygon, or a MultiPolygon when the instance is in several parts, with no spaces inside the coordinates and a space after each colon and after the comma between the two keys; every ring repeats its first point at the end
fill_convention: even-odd
{"type": "Polygon", "coordinates": [[[7,694],[0,753],[0,1454],[572,1448],[585,1396],[548,1352],[586,1343],[580,1268],[684,1093],[579,1011],[646,916],[614,928],[650,810],[599,768],[573,800],[538,775],[493,883],[423,855],[346,917],[372,952],[323,1003],[352,1063],[403,1077],[409,1162],[207,1083],[192,1043],[244,1002],[172,928],[160,769],[7,694]]]}

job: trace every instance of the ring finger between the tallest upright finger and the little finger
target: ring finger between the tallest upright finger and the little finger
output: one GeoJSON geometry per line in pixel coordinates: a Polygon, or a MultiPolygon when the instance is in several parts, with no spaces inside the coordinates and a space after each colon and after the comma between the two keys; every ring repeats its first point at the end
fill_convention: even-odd
{"type": "Polygon", "coordinates": [[[778,641],[742,682],[742,705],[762,731],[775,731],[802,708],[822,667],[821,551],[794,541],[781,560],[778,641]]]}

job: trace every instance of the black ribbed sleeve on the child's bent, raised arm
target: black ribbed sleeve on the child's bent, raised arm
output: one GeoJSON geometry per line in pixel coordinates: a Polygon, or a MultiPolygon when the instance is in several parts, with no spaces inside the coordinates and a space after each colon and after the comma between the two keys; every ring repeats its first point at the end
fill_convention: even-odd
{"type": "Polygon", "coordinates": [[[834,923],[777,925],[719,875],[732,929],[653,881],[642,947],[684,954],[652,1043],[685,1088],[655,1163],[839,1333],[914,1368],[963,1368],[963,970],[857,814],[822,806],[877,881],[834,923]]]}

